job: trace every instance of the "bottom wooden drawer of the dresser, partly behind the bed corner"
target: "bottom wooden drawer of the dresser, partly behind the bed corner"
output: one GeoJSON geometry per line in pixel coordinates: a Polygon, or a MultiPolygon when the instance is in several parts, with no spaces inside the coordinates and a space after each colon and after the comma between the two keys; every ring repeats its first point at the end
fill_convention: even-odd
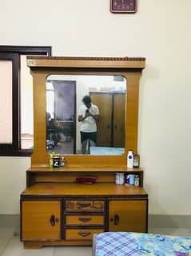
{"type": "Polygon", "coordinates": [[[92,240],[93,234],[99,234],[104,230],[66,230],[66,240],[92,240]]]}

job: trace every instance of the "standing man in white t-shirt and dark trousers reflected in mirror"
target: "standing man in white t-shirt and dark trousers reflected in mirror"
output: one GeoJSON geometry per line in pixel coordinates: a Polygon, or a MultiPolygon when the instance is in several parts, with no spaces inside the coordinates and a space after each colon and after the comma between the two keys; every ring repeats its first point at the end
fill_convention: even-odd
{"type": "Polygon", "coordinates": [[[90,95],[82,99],[83,105],[78,109],[78,121],[81,122],[80,133],[82,154],[90,153],[90,146],[95,146],[97,141],[97,120],[99,108],[92,104],[90,95]]]}

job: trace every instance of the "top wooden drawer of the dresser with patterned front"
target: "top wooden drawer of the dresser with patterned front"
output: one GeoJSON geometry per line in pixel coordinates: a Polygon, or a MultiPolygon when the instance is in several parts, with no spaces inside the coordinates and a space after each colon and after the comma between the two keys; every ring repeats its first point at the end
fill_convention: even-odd
{"type": "Polygon", "coordinates": [[[104,201],[66,201],[66,212],[103,212],[104,201]]]}

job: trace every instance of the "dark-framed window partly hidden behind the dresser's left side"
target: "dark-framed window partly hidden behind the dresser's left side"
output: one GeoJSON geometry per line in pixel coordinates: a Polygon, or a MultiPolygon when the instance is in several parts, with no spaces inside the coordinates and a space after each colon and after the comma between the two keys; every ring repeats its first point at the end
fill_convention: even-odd
{"type": "Polygon", "coordinates": [[[30,156],[33,148],[32,83],[26,55],[51,55],[51,47],[0,46],[0,155],[30,156]],[[23,83],[24,81],[24,83],[23,83]]]}

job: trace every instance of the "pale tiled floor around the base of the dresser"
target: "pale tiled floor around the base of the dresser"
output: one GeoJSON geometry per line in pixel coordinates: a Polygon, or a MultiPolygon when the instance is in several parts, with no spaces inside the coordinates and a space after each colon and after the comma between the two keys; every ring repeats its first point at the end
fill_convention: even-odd
{"type": "MultiPolygon", "coordinates": [[[[149,233],[191,236],[187,229],[150,229],[149,233]]],[[[38,250],[24,250],[13,228],[0,227],[0,256],[91,256],[91,246],[52,246],[38,250]]]]}

